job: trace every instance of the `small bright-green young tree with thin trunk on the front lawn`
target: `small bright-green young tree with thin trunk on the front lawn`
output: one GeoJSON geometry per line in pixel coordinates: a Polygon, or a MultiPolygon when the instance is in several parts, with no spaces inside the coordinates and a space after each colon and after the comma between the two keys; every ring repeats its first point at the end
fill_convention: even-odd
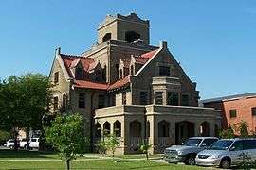
{"type": "Polygon", "coordinates": [[[60,157],[69,170],[70,161],[76,159],[76,154],[84,153],[88,144],[84,137],[82,116],[58,115],[51,126],[46,127],[46,143],[60,151],[60,157]]]}

